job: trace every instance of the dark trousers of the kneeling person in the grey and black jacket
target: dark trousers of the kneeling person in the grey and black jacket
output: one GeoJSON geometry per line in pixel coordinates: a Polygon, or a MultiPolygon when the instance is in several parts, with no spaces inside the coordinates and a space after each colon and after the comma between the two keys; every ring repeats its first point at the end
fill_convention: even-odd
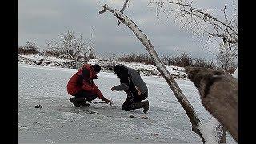
{"type": "Polygon", "coordinates": [[[134,110],[134,102],[142,102],[142,100],[146,99],[148,96],[147,91],[144,94],[141,95],[135,95],[133,99],[131,99],[128,95],[126,98],[126,101],[122,104],[122,110],[130,111],[134,110]]]}

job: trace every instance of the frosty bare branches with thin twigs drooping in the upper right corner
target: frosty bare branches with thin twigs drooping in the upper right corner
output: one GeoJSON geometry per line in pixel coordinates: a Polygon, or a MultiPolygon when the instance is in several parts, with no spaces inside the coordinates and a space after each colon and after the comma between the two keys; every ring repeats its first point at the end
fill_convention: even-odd
{"type": "MultiPolygon", "coordinates": [[[[206,39],[206,45],[213,39],[217,40],[222,46],[222,43],[229,49],[229,54],[225,55],[226,64],[232,66],[231,59],[237,55],[231,53],[238,53],[238,9],[236,7],[237,1],[234,0],[230,6],[230,15],[227,14],[227,5],[223,6],[222,18],[211,14],[214,10],[199,9],[194,7],[193,0],[150,0],[148,6],[154,6],[157,14],[162,11],[166,16],[174,15],[174,21],[178,21],[182,28],[190,27],[193,34],[198,36],[201,41],[206,39]]],[[[222,47],[219,48],[222,50],[222,47]]],[[[223,59],[223,53],[221,62],[223,59]]],[[[220,62],[220,57],[217,57],[220,62]]]]}

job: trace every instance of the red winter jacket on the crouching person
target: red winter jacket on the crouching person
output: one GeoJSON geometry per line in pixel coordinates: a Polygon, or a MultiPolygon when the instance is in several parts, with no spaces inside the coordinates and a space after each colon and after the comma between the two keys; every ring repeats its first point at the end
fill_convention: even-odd
{"type": "Polygon", "coordinates": [[[80,90],[86,90],[93,94],[96,94],[98,98],[104,100],[105,98],[103,97],[102,92],[98,89],[98,86],[95,85],[95,83],[93,82],[93,79],[97,79],[97,75],[94,71],[94,68],[90,64],[85,64],[84,66],[82,66],[82,68],[78,70],[78,72],[76,72],[70,78],[66,86],[67,92],[70,95],[74,95],[74,94],[77,94],[78,91],[80,90]],[[78,86],[77,80],[78,80],[78,77],[82,75],[83,69],[88,70],[89,75],[87,75],[86,78],[82,80],[82,86],[78,86]]]}

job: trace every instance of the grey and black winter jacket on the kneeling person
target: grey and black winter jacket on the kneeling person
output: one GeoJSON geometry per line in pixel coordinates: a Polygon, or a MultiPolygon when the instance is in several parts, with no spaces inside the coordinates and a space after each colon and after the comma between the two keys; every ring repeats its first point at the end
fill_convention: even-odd
{"type": "Polygon", "coordinates": [[[124,90],[133,95],[141,95],[148,91],[146,83],[142,80],[137,70],[128,68],[124,65],[114,66],[114,72],[120,78],[120,85],[114,86],[113,90],[124,90]]]}

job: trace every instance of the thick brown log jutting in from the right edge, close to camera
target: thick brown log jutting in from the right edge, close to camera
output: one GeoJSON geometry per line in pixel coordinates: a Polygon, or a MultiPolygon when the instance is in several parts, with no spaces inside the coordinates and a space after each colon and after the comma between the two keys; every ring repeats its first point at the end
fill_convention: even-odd
{"type": "Polygon", "coordinates": [[[202,105],[238,142],[238,80],[231,74],[203,68],[186,68],[198,88],[202,105]]]}

